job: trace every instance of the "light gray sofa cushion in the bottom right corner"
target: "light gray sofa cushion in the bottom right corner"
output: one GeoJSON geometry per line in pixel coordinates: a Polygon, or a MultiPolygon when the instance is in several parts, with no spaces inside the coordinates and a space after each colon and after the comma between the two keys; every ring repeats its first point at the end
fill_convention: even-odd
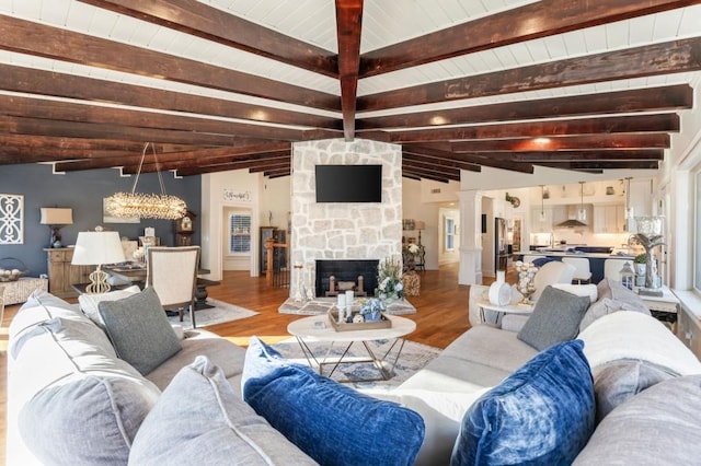
{"type": "Polygon", "coordinates": [[[691,465],[701,458],[701,375],[660,382],[611,411],[575,465],[691,465]]]}

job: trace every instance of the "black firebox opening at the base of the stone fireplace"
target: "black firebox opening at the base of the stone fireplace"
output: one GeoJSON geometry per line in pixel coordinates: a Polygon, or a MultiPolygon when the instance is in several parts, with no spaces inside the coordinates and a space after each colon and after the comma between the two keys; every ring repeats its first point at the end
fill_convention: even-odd
{"type": "MultiPolygon", "coordinates": [[[[334,277],[335,292],[348,287],[349,282],[354,287],[358,284],[358,277],[363,277],[363,290],[368,296],[375,295],[377,288],[377,259],[331,259],[317,260],[317,296],[326,296],[331,291],[331,277],[334,277]]],[[[354,291],[360,291],[355,289],[354,291]]],[[[331,293],[333,295],[334,292],[331,293]]]]}

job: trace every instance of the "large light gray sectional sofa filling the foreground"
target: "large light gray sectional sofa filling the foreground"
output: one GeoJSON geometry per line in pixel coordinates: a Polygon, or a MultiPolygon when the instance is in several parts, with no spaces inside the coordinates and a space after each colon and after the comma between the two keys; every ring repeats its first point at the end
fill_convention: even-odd
{"type": "MultiPolygon", "coordinates": [[[[585,404],[586,408],[596,408],[596,412],[581,416],[591,430],[595,424],[596,429],[593,434],[586,433],[586,446],[576,445],[576,463],[598,466],[697,461],[701,457],[701,363],[663,324],[641,310],[640,303],[624,295],[620,286],[605,281],[597,292],[597,300],[587,301],[578,328],[568,338],[584,342],[586,358],[586,374],[579,373],[581,381],[575,380],[574,386],[590,386],[596,399],[596,405],[585,404]],[[679,439],[686,442],[682,446],[679,439]],[[675,447],[669,448],[667,441],[675,447]]],[[[117,303],[122,305],[124,301],[117,303]]],[[[544,295],[543,303],[547,301],[544,295]]],[[[559,306],[563,314],[570,313],[565,303],[559,306]]],[[[556,311],[540,314],[552,319],[556,311]]],[[[552,334],[564,331],[554,327],[558,326],[553,326],[552,334]]],[[[464,438],[470,416],[485,412],[478,410],[485,399],[509,383],[513,387],[514,378],[533,361],[567,345],[551,346],[547,340],[551,335],[536,334],[537,338],[544,337],[548,345],[547,349],[537,349],[532,339],[524,341],[529,340],[526,328],[474,326],[401,386],[374,394],[409,408],[403,413],[409,412],[409,419],[411,412],[421,415],[424,426],[406,426],[418,429],[416,432],[424,436],[416,464],[447,465],[455,451],[472,448],[464,438]]],[[[532,335],[531,328],[531,338],[532,335]]],[[[191,461],[193,452],[202,451],[226,454],[231,464],[317,463],[276,431],[272,419],[258,416],[241,399],[244,349],[199,329],[188,331],[180,346],[143,376],[117,357],[119,346],[113,345],[105,331],[77,306],[48,293],[31,296],[10,327],[8,464],[126,464],[130,452],[134,464],[159,464],[163,458],[171,464],[187,464],[182,457],[179,461],[173,451],[185,452],[191,461]],[[207,359],[199,358],[193,364],[197,356],[207,359]],[[185,366],[188,368],[183,370],[185,366]],[[193,408],[192,403],[204,403],[199,395],[209,391],[214,398],[223,400],[218,405],[220,409],[212,411],[202,405],[193,408]],[[226,413],[223,420],[218,418],[220,412],[226,413]],[[192,422],[180,422],[191,418],[192,422]],[[232,427],[232,419],[248,427],[232,427]],[[231,446],[223,453],[212,452],[221,448],[208,443],[212,435],[210,424],[227,435],[225,440],[216,438],[215,444],[239,442],[235,450],[231,446]],[[252,429],[251,426],[261,436],[252,436],[250,431],[242,434],[240,429],[252,429]],[[248,443],[240,445],[244,438],[248,443]],[[261,461],[261,451],[265,461],[261,461]]],[[[567,351],[576,352],[577,347],[571,346],[567,351]]],[[[559,384],[550,385],[559,388],[559,384]]],[[[360,398],[354,403],[374,401],[360,398]]],[[[314,409],[314,405],[308,406],[312,415],[314,409]]],[[[363,431],[363,427],[353,430],[363,431]]],[[[536,432],[526,429],[524,434],[536,432]]],[[[575,447],[561,444],[554,448],[565,446],[575,447]]],[[[338,456],[335,464],[345,464],[343,455],[338,456]]],[[[221,457],[207,461],[206,456],[197,456],[198,463],[217,461],[221,457]]],[[[453,464],[464,462],[457,455],[453,464]]]]}

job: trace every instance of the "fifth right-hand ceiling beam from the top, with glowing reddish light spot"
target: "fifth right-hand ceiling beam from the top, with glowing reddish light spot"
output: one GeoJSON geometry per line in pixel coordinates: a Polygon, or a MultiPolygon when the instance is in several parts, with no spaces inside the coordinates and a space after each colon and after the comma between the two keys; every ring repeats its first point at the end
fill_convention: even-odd
{"type": "Polygon", "coordinates": [[[598,149],[668,149],[667,133],[556,136],[528,139],[489,139],[452,142],[453,152],[529,152],[598,149]]]}

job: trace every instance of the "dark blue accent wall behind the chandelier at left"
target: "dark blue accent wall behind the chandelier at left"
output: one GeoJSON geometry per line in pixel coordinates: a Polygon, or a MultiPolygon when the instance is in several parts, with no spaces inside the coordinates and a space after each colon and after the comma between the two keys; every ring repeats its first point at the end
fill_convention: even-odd
{"type": "MultiPolygon", "coordinates": [[[[152,226],[164,246],[175,245],[175,226],[171,220],[145,219],[140,223],[104,223],[103,199],[117,191],[131,191],[134,176],[122,177],[115,168],[90,170],[53,174],[50,164],[22,164],[0,166],[0,193],[24,196],[24,243],[0,244],[0,259],[13,257],[22,260],[30,276],[47,272],[47,255],[50,230],[39,223],[42,207],[69,207],[73,209],[73,224],[61,229],[64,245],[76,243],[79,231],[94,230],[102,225],[119,232],[120,236],[138,240],[143,229],[152,226]]],[[[202,176],[174,179],[171,172],[161,174],[165,193],[181,197],[187,209],[194,212],[194,244],[200,244],[202,176]]],[[[157,173],[139,176],[137,193],[161,193],[157,173]]]]}

